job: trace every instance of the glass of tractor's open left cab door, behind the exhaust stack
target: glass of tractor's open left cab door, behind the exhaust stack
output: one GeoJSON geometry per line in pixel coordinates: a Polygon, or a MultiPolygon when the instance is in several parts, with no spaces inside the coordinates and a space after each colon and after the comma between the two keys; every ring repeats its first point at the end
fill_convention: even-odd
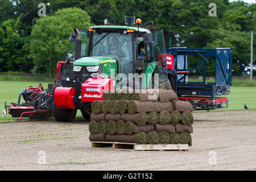
{"type": "MultiPolygon", "coordinates": [[[[89,38],[86,36],[86,32],[83,30],[79,30],[80,35],[81,35],[81,56],[87,56],[88,52],[88,45],[89,45],[89,38]]],[[[70,42],[69,43],[69,48],[68,48],[68,57],[71,57],[72,59],[75,59],[75,48],[76,48],[76,43],[75,42],[70,42]]]]}

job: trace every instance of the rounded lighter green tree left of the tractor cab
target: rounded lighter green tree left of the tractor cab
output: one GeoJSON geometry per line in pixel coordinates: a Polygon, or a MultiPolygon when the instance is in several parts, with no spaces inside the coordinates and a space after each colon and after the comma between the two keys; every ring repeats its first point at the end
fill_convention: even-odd
{"type": "Polygon", "coordinates": [[[73,27],[91,26],[89,15],[78,8],[58,10],[52,16],[38,18],[31,32],[30,57],[33,59],[33,73],[51,75],[56,63],[67,55],[68,38],[73,27]]]}

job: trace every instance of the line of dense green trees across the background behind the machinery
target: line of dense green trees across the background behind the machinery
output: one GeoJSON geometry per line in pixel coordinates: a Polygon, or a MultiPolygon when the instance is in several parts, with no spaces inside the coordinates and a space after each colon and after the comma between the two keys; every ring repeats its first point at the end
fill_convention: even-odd
{"type": "MultiPolygon", "coordinates": [[[[255,32],[256,4],[216,0],[217,16],[209,16],[205,0],[0,0],[0,72],[45,73],[53,76],[57,61],[67,54],[74,27],[103,24],[104,18],[123,25],[125,15],[154,22],[177,35],[176,46],[231,47],[234,75],[250,63],[250,32],[255,32]],[[39,3],[46,16],[39,17],[39,3]]],[[[254,36],[254,43],[255,43],[254,36]]],[[[256,55],[254,44],[254,57],[256,55]]],[[[198,61],[189,61],[193,67],[198,61]]],[[[214,75],[209,61],[208,76],[214,75]]],[[[197,73],[200,73],[199,70],[197,73]]]]}

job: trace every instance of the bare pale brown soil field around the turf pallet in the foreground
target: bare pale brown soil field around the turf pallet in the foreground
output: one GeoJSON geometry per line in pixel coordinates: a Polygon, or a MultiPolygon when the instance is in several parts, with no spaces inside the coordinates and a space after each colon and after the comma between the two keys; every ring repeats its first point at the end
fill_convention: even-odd
{"type": "Polygon", "coordinates": [[[54,119],[0,123],[0,170],[256,169],[256,110],[193,116],[193,144],[188,151],[92,149],[89,122],[82,118],[72,123],[54,119]],[[46,153],[46,164],[38,164],[39,151],[46,153]],[[211,163],[213,154],[216,163],[211,163]]]}

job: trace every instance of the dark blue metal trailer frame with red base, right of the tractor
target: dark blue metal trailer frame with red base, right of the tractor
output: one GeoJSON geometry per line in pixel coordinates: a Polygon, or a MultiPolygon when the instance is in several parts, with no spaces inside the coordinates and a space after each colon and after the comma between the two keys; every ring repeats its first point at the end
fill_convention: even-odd
{"type": "Polygon", "coordinates": [[[179,100],[190,101],[195,110],[214,110],[228,107],[228,98],[216,97],[230,93],[232,85],[232,48],[167,48],[174,55],[174,69],[168,69],[172,86],[179,100]],[[194,68],[188,69],[188,56],[201,60],[194,68]],[[215,57],[215,82],[206,82],[207,61],[215,57]],[[180,65],[182,65],[180,67],[180,65]],[[203,69],[202,82],[187,81],[188,75],[199,67],[203,69]],[[181,75],[181,76],[178,76],[181,75]]]}

